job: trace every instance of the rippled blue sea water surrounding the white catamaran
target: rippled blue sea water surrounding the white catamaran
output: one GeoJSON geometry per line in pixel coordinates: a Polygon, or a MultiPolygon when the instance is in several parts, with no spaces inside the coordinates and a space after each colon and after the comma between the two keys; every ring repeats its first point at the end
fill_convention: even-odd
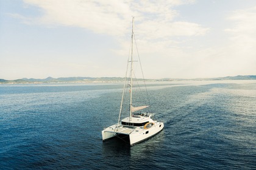
{"type": "Polygon", "coordinates": [[[165,128],[102,142],[122,84],[1,84],[0,169],[256,169],[256,81],[148,86],[165,128]]]}

